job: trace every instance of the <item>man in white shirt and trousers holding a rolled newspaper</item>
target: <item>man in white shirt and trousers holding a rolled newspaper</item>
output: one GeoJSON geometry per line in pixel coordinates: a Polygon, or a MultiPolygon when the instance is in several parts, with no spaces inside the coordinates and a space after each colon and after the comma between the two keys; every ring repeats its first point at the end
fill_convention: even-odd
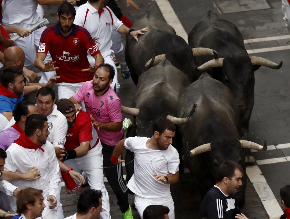
{"type": "MultiPolygon", "coordinates": [[[[67,0],[72,3],[75,0],[67,0]]],[[[25,67],[32,69],[36,56],[35,46],[38,47],[41,33],[46,26],[33,32],[30,26],[39,22],[41,16],[36,12],[38,3],[40,5],[55,5],[63,3],[63,0],[6,0],[3,7],[2,24],[7,33],[17,33],[21,38],[15,41],[15,45],[24,50],[25,67]]],[[[46,56],[45,62],[51,61],[51,56],[46,56]]],[[[53,77],[55,71],[43,72],[39,83],[47,83],[53,77]]]]}

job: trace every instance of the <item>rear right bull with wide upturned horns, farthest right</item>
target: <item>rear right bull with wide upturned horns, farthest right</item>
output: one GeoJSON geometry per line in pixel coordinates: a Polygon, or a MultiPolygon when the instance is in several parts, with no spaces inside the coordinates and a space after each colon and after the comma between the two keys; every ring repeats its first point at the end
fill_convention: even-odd
{"type": "Polygon", "coordinates": [[[207,71],[214,79],[226,84],[234,94],[241,112],[243,135],[249,131],[254,106],[254,71],[261,65],[280,69],[280,64],[261,57],[249,57],[239,29],[209,11],[188,35],[190,47],[207,47],[216,50],[220,59],[210,56],[196,57],[197,70],[207,71]]]}

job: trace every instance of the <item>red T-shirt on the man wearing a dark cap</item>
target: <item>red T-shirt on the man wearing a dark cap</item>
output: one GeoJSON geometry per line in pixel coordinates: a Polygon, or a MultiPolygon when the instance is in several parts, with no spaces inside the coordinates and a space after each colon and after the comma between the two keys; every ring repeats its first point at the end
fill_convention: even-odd
{"type": "Polygon", "coordinates": [[[67,130],[66,139],[64,145],[66,150],[73,150],[80,143],[93,139],[91,118],[86,112],[78,112],[74,125],[67,130]]]}

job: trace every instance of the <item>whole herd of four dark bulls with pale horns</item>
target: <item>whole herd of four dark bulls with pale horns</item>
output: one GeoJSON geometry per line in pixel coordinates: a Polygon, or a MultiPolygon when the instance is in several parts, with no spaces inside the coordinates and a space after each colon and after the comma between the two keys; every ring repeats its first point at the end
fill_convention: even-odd
{"type": "MultiPolygon", "coordinates": [[[[132,108],[133,126],[126,137],[152,136],[152,122],[167,117],[178,125],[173,145],[184,153],[201,196],[215,184],[215,173],[225,160],[238,162],[245,171],[249,149],[266,150],[247,141],[254,106],[254,71],[261,65],[280,69],[280,64],[249,57],[238,28],[209,11],[195,25],[187,44],[166,23],[150,15],[134,23],[149,31],[136,42],[126,38],[126,62],[137,92],[132,108]],[[203,73],[205,72],[205,73],[203,73]]],[[[126,163],[132,154],[126,151],[126,163]]],[[[127,180],[133,164],[127,168],[127,180]]],[[[180,172],[182,172],[182,160],[180,172]]],[[[245,201],[246,176],[237,194],[245,201]]]]}

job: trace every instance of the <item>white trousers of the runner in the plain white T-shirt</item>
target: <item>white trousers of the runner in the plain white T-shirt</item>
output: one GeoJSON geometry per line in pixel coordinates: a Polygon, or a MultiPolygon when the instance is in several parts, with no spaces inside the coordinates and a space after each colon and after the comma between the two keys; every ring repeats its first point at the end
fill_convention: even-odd
{"type": "Polygon", "coordinates": [[[143,211],[149,205],[163,205],[169,208],[169,219],[175,219],[174,215],[174,203],[171,194],[163,198],[143,198],[141,196],[135,195],[135,207],[141,217],[143,218],[143,211]]]}

